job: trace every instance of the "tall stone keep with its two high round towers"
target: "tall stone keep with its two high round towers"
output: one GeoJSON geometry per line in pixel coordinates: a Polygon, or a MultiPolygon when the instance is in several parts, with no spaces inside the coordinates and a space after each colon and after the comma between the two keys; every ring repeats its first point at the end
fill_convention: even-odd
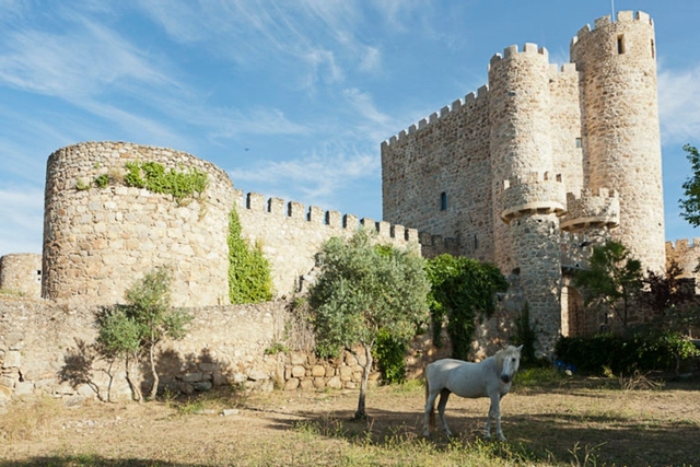
{"type": "Polygon", "coordinates": [[[382,182],[385,221],[517,275],[540,350],[595,326],[568,288],[587,245],[665,266],[653,21],[596,20],[561,68],[534,44],[497,54],[488,86],[382,143],[382,182]]]}

